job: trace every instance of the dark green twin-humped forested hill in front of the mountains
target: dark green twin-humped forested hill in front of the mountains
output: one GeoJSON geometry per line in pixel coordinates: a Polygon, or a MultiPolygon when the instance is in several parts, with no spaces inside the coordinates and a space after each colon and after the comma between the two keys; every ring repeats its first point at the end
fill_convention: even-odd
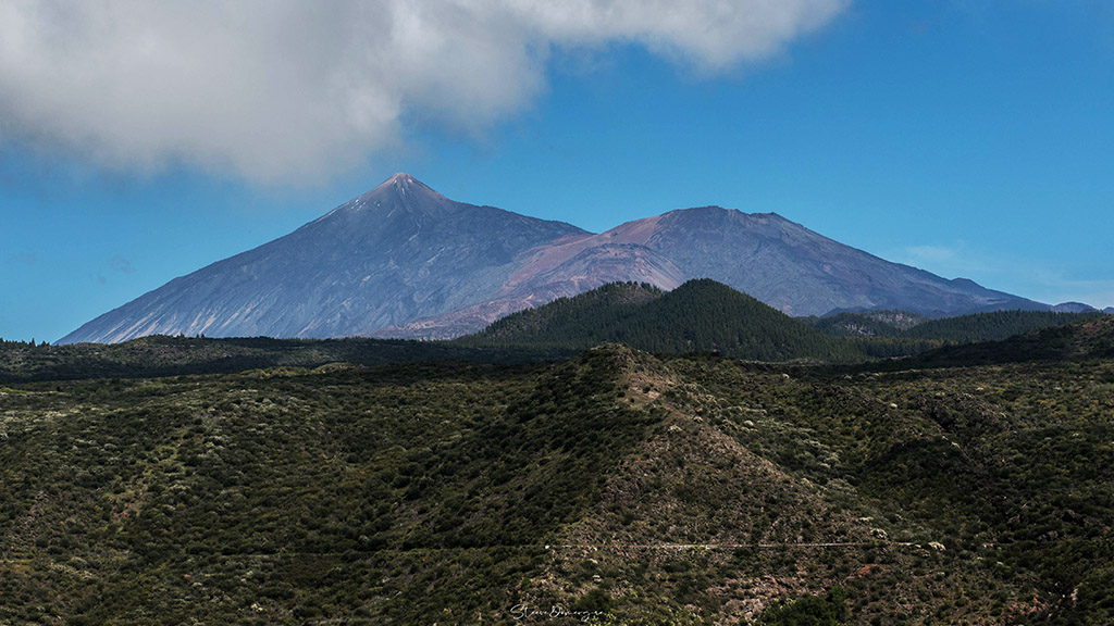
{"type": "Polygon", "coordinates": [[[508,315],[459,342],[566,349],[623,342],[651,352],[717,351],[758,361],[862,359],[848,342],[707,278],[664,294],[634,283],[604,285],[508,315]]]}

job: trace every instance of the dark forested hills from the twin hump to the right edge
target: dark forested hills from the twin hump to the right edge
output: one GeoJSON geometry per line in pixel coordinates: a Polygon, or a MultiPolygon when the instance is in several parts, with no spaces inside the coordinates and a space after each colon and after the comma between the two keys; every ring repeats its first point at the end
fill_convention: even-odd
{"type": "Polygon", "coordinates": [[[711,280],[663,293],[610,283],[512,313],[453,342],[467,346],[585,350],[623,342],[656,353],[711,351],[752,361],[854,362],[908,356],[962,343],[1000,341],[1102,313],[998,311],[928,320],[905,311],[790,317],[711,280]]]}

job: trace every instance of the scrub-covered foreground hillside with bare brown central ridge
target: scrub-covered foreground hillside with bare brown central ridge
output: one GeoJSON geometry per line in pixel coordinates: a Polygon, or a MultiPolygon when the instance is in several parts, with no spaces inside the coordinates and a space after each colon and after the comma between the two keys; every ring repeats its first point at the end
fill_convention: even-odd
{"type": "Polygon", "coordinates": [[[9,382],[0,623],[1110,624],[1112,339],[9,382]]]}

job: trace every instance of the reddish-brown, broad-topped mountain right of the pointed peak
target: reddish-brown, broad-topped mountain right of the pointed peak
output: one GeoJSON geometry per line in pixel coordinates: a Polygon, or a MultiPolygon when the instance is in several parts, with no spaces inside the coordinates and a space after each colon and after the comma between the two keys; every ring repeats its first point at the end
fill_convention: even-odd
{"type": "MultiPolygon", "coordinates": [[[[613,281],[671,290],[712,278],[786,314],[901,309],[927,316],[1048,305],[946,280],[841,244],[774,213],[709,206],[627,222],[598,235],[527,251],[504,286],[504,314],[613,281]],[[534,304],[527,300],[532,296],[534,304]]],[[[482,327],[494,311],[470,307],[388,329],[374,336],[449,338],[482,327]],[[471,326],[469,329],[469,326],[471,326]]]]}

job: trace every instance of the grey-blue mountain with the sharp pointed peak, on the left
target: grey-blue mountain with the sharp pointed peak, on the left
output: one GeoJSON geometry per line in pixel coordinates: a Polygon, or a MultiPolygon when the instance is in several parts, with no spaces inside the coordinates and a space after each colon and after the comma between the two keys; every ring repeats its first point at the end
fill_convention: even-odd
{"type": "Polygon", "coordinates": [[[585,234],[457,203],[399,174],[290,235],[106,313],[60,343],[178,333],[351,335],[494,299],[517,254],[585,234]]]}

